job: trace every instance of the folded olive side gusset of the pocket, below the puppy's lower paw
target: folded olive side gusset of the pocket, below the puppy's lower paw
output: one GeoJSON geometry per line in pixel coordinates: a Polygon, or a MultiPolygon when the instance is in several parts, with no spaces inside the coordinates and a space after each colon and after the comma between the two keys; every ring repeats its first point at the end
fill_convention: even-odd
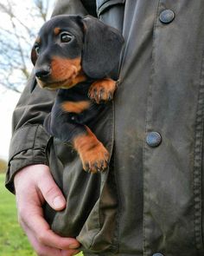
{"type": "Polygon", "coordinates": [[[118,192],[112,167],[101,176],[99,198],[77,240],[84,253],[118,251],[118,192]]]}

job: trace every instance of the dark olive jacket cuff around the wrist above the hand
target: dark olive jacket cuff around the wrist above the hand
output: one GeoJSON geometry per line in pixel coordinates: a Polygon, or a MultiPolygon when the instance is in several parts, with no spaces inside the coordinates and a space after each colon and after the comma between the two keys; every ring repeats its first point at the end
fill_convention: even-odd
{"type": "Polygon", "coordinates": [[[50,135],[41,125],[28,125],[19,128],[10,141],[10,156],[5,186],[15,193],[14,176],[22,169],[33,164],[48,165],[46,146],[50,135]]]}

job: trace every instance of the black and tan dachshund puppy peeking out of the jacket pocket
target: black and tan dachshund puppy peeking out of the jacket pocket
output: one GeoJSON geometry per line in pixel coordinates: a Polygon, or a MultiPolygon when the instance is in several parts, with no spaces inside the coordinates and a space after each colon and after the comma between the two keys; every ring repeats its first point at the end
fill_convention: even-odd
{"type": "Polygon", "coordinates": [[[92,16],[55,16],[45,23],[32,49],[41,88],[58,89],[45,128],[71,142],[83,168],[105,170],[109,153],[86,124],[112,100],[116,82],[108,74],[119,62],[124,43],[118,30],[92,16]]]}

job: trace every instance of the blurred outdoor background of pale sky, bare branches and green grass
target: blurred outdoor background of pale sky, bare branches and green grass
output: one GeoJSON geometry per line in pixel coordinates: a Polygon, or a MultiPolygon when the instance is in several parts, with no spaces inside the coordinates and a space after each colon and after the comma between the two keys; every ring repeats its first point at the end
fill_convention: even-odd
{"type": "Polygon", "coordinates": [[[0,255],[35,255],[17,223],[15,196],[4,188],[12,112],[32,70],[30,50],[54,0],[0,0],[0,255]]]}

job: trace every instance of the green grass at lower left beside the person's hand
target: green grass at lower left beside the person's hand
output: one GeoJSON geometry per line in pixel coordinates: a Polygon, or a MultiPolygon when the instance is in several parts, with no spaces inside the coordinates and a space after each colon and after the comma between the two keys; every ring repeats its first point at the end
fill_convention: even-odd
{"type": "Polygon", "coordinates": [[[4,174],[0,174],[0,255],[34,256],[16,216],[15,196],[4,188],[4,174]]]}

